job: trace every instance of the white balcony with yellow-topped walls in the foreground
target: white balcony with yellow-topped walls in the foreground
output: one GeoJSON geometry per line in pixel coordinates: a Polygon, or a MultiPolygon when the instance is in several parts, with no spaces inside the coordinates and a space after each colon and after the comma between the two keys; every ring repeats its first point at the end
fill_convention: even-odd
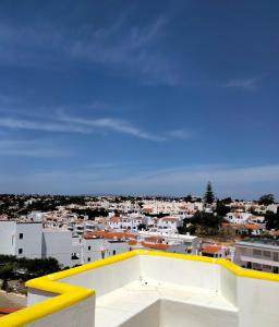
{"type": "Polygon", "coordinates": [[[279,326],[279,276],[226,259],[132,251],[27,282],[0,326],[279,326]]]}

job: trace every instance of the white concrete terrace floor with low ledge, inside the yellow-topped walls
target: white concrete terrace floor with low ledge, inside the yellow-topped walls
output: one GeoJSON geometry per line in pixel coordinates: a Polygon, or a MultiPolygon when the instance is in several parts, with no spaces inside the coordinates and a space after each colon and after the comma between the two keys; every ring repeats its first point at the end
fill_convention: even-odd
{"type": "Polygon", "coordinates": [[[96,327],[235,327],[238,308],[215,291],[133,281],[97,298],[96,327]]]}

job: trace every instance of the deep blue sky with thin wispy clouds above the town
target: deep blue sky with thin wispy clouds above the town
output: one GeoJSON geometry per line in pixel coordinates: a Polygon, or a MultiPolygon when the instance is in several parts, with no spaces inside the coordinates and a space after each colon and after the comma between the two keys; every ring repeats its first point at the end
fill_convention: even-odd
{"type": "Polygon", "coordinates": [[[0,192],[279,192],[278,1],[1,1],[0,192]]]}

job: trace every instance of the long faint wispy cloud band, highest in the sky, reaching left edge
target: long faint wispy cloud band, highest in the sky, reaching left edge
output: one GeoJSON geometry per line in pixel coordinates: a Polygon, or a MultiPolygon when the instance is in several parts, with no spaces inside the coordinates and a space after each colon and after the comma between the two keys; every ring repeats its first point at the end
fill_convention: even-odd
{"type": "Polygon", "coordinates": [[[157,48],[168,24],[166,15],[143,26],[126,22],[126,16],[117,15],[106,27],[80,25],[71,33],[58,28],[53,22],[40,28],[28,24],[17,28],[1,23],[0,60],[40,69],[61,68],[65,61],[83,65],[98,63],[122,75],[132,74],[144,83],[178,84],[172,61],[157,48]]]}

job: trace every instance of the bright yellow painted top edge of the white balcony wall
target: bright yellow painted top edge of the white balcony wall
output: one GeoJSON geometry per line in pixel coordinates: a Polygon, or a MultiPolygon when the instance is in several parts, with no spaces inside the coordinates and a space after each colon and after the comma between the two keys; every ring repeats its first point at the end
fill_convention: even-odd
{"type": "Polygon", "coordinates": [[[155,251],[145,251],[145,250],[137,250],[131,251],[123,254],[119,254],[116,256],[111,256],[105,259],[100,259],[90,264],[86,264],[76,268],[71,268],[68,270],[54,272],[51,275],[47,275],[44,277],[39,277],[36,279],[32,279],[26,282],[28,288],[37,289],[40,291],[46,291],[54,295],[51,299],[45,300],[40,303],[31,305],[26,308],[20,310],[15,313],[7,315],[0,318],[0,326],[1,327],[17,327],[24,326],[37,319],[41,319],[47,315],[53,314],[58,311],[61,311],[65,307],[69,307],[82,300],[85,300],[89,296],[95,295],[94,290],[89,290],[82,287],[71,286],[66,283],[59,282],[66,277],[71,277],[74,275],[78,275],[81,272],[85,272],[88,270],[94,270],[107,265],[112,265],[114,263],[119,263],[131,257],[135,257],[137,255],[148,255],[148,256],[157,256],[157,257],[169,257],[175,259],[185,259],[185,261],[195,261],[202,262],[207,264],[215,264],[225,267],[232,274],[239,277],[244,278],[256,278],[256,279],[264,279],[269,281],[279,281],[279,275],[269,274],[269,272],[262,272],[255,270],[243,269],[227,259],[220,258],[210,258],[204,256],[196,256],[196,255],[185,255],[185,254],[174,254],[174,253],[165,253],[165,252],[155,252],[155,251]]]}

